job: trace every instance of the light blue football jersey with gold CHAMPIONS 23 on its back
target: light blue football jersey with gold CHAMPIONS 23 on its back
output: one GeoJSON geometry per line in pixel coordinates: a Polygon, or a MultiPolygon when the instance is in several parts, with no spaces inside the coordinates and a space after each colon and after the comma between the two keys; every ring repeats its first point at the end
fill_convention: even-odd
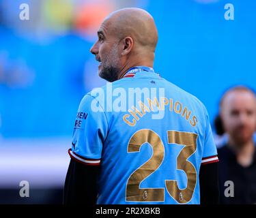
{"type": "Polygon", "coordinates": [[[143,66],[83,97],[69,154],[101,166],[98,204],[199,204],[218,161],[205,106],[143,66]]]}

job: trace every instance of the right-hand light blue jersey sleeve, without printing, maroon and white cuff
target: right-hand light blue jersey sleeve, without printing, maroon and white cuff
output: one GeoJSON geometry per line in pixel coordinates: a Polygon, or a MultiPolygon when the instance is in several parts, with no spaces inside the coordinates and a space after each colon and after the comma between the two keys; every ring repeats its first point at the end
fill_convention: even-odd
{"type": "Polygon", "coordinates": [[[203,158],[201,164],[214,163],[218,162],[218,153],[216,149],[216,144],[214,142],[214,138],[212,135],[212,128],[209,121],[208,112],[205,109],[205,138],[204,138],[204,146],[203,146],[203,158]]]}

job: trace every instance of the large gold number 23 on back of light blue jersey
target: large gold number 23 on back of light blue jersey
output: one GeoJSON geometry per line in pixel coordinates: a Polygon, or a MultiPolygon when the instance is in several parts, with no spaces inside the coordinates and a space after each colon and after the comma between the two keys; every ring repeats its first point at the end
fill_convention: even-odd
{"type": "MultiPolygon", "coordinates": [[[[184,131],[167,131],[168,144],[180,144],[184,148],[177,156],[177,169],[184,170],[187,176],[187,186],[180,189],[177,181],[165,180],[165,186],[171,197],[178,203],[189,202],[195,191],[197,183],[197,170],[193,163],[188,161],[188,157],[193,155],[197,149],[197,134],[184,131]]],[[[164,188],[140,188],[140,184],[145,178],[155,172],[165,156],[165,146],[156,132],[150,129],[137,131],[128,144],[128,153],[139,152],[141,146],[148,142],[153,149],[152,157],[137,170],[135,170],[126,185],[126,201],[129,202],[163,202],[165,201],[164,188]]]]}

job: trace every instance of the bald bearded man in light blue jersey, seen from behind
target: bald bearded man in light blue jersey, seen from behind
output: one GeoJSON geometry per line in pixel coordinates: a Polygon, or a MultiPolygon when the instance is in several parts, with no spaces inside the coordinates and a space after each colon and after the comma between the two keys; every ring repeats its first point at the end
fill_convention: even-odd
{"type": "Polygon", "coordinates": [[[154,19],[139,8],[113,12],[100,25],[91,53],[111,83],[79,106],[65,204],[218,202],[207,111],[154,72],[157,42],[154,19]]]}

